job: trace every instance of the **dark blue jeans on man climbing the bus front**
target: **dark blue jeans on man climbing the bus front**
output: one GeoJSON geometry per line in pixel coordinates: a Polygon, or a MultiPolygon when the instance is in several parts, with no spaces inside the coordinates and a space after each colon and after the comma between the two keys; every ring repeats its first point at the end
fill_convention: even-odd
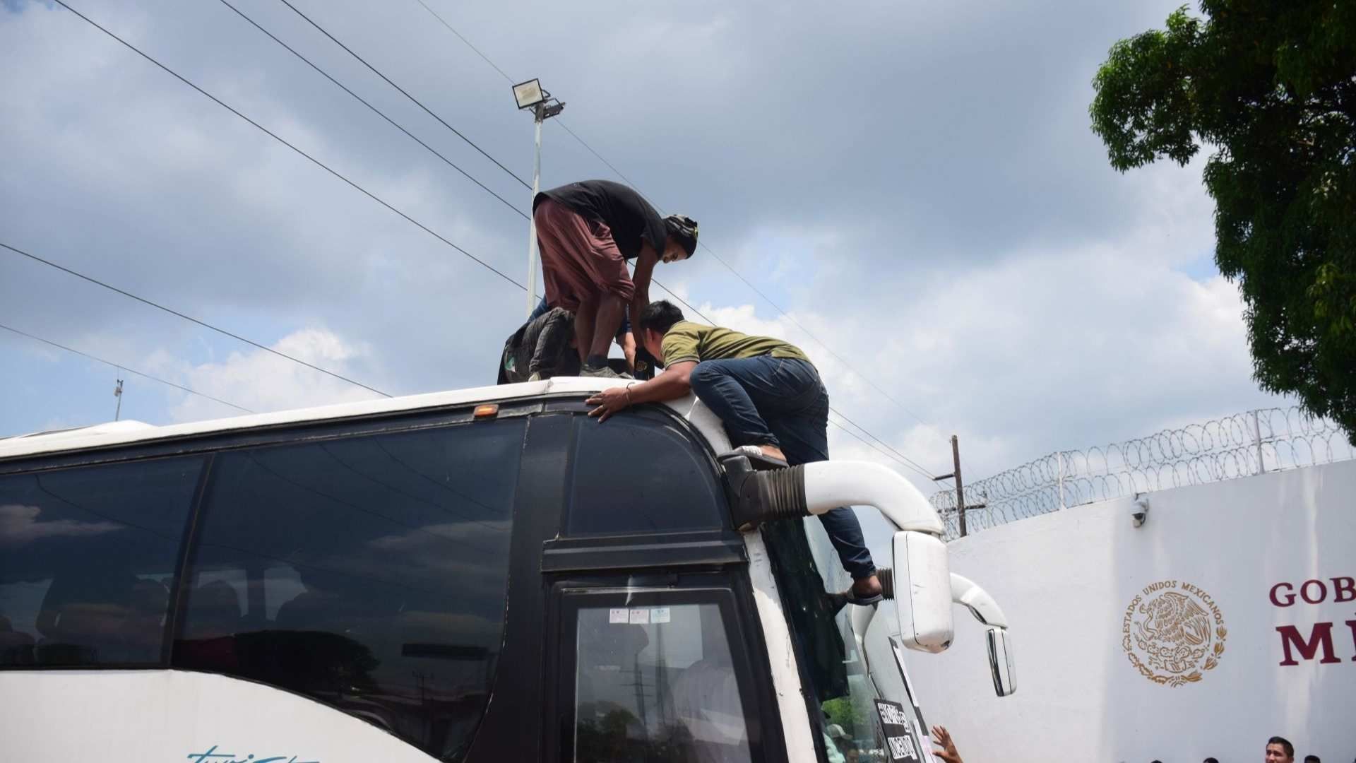
{"type": "MultiPolygon", "coordinates": [[[[812,364],[772,356],[706,360],[690,382],[732,445],[777,445],[791,466],[829,460],[829,391],[812,364]]],[[[852,509],[833,509],[819,521],[853,580],[876,574],[852,509]]]]}

